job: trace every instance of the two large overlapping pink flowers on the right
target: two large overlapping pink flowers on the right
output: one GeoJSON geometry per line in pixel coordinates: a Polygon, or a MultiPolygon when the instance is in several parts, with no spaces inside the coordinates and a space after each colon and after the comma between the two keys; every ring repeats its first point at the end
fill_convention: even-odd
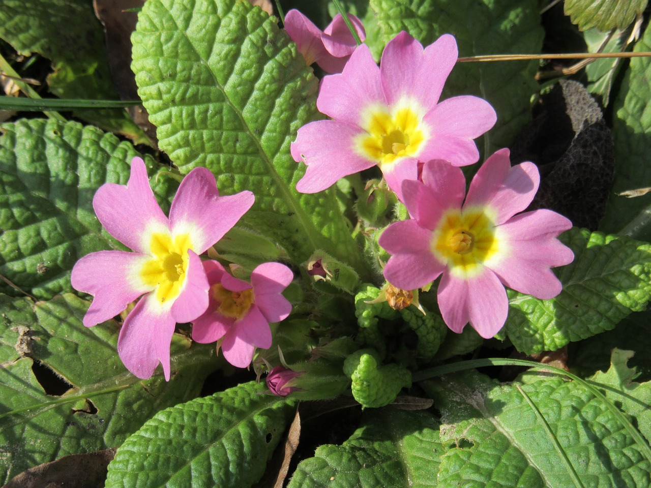
{"type": "Polygon", "coordinates": [[[512,168],[506,149],[486,160],[464,201],[458,167],[479,159],[473,139],[496,115],[475,96],[439,100],[457,55],[450,35],[423,49],[402,32],[379,67],[368,47],[357,47],[341,74],[321,82],[316,105],[330,119],[301,127],[291,152],[307,165],[296,185],[303,193],[377,165],[411,217],[379,239],[392,254],[387,282],[409,291],[440,276],[438,303],[449,328],[461,332],[470,323],[490,338],[506,321],[504,286],[540,299],[560,293],[550,268],[574,259],[556,238],[572,223],[549,210],[516,215],[533,200],[539,175],[533,163],[512,168]]]}

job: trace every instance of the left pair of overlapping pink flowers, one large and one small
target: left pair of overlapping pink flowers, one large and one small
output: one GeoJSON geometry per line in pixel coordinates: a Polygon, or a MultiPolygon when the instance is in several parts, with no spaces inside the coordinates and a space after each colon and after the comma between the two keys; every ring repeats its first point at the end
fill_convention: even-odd
{"type": "Polygon", "coordinates": [[[253,287],[236,280],[237,290],[246,295],[246,305],[233,312],[232,306],[221,306],[233,299],[217,290],[221,290],[219,280],[228,288],[235,278],[229,281],[227,273],[219,277],[206,273],[219,264],[202,263],[199,257],[240,220],[254,199],[250,191],[219,196],[212,172],[196,168],[181,182],[169,218],[165,217],[139,157],[133,158],[126,186],[105,183],[98,189],[92,204],[100,223],[134,252],[100,251],[84,256],[72,269],[72,286],[94,296],[83,319],[86,327],[113,318],[141,297],[118,337],[120,359],[134,375],[148,378],[160,362],[169,380],[176,323],[200,321],[200,335],[205,338],[206,327],[211,327],[204,316],[214,307],[230,312],[230,321],[221,322],[225,330],[212,334],[214,340],[226,334],[227,359],[236,357],[237,365],[244,367],[251,362],[254,345],[270,346],[266,340],[271,334],[269,325],[262,322],[288,316],[291,306],[279,293],[292,280],[291,271],[282,264],[267,263],[256,268],[260,271],[252,275],[253,287]]]}

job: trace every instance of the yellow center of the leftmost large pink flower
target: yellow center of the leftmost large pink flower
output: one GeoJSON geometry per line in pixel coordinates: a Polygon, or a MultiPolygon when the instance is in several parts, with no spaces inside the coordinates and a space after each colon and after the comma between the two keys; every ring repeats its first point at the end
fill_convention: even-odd
{"type": "Polygon", "coordinates": [[[153,257],[141,268],[140,277],[146,285],[155,287],[154,296],[161,305],[173,303],[181,293],[189,262],[188,249],[192,249],[188,234],[174,239],[169,234],[152,234],[150,252],[153,257]]]}

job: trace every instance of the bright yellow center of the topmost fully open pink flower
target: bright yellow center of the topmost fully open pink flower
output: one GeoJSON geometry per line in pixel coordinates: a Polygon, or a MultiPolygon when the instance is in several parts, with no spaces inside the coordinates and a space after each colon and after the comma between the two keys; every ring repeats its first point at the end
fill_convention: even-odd
{"type": "Polygon", "coordinates": [[[400,157],[417,156],[428,138],[428,128],[421,116],[408,104],[392,113],[386,107],[373,107],[367,111],[360,126],[367,133],[357,136],[361,156],[388,165],[400,157]]]}

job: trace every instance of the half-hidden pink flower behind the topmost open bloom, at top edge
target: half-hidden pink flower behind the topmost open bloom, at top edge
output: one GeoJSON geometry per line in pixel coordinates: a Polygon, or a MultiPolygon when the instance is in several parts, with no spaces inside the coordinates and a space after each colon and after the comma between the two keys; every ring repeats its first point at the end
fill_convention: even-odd
{"type": "MultiPolygon", "coordinates": [[[[348,18],[363,42],[366,32],[361,21],[351,14],[348,14],[348,18]]],[[[301,12],[292,9],[285,16],[284,29],[296,42],[296,47],[305,57],[307,65],[316,62],[326,73],[340,73],[357,47],[355,38],[341,14],[337,14],[322,32],[301,12]]]]}

